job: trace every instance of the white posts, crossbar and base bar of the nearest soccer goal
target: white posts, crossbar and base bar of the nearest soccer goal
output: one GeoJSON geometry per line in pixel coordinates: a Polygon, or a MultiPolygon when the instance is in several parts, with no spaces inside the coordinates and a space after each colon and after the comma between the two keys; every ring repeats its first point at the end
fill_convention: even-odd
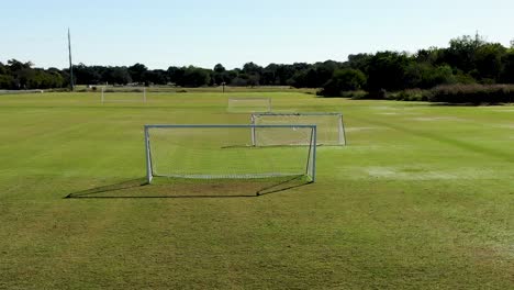
{"type": "MultiPolygon", "coordinates": [[[[147,124],[144,126],[145,134],[145,156],[146,156],[146,182],[149,185],[154,177],[171,177],[171,178],[190,178],[190,179],[210,179],[210,176],[179,176],[179,175],[157,175],[154,172],[154,166],[152,160],[152,137],[149,131],[152,129],[170,129],[170,130],[188,130],[188,129],[248,129],[250,132],[255,132],[256,129],[310,129],[311,130],[311,141],[309,144],[309,156],[306,158],[308,163],[305,165],[304,176],[310,178],[311,182],[314,182],[316,179],[316,125],[232,125],[232,124],[147,124]]],[[[250,133],[248,132],[248,133],[250,133]]],[[[266,146],[266,145],[265,145],[266,146]]],[[[269,145],[269,146],[294,146],[294,145],[269,145]]],[[[252,146],[250,146],[252,147],[252,146]]],[[[258,176],[231,176],[231,177],[216,177],[217,179],[250,179],[250,178],[270,178],[270,177],[280,177],[280,176],[291,176],[291,175],[277,175],[277,174],[260,174],[258,176]]]]}

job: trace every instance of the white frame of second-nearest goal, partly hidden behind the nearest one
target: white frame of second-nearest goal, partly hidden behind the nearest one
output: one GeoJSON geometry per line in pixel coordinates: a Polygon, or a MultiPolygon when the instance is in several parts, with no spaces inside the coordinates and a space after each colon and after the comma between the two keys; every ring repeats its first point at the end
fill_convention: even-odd
{"type": "MultiPolygon", "coordinates": [[[[325,131],[328,130],[324,127],[322,124],[312,122],[312,124],[317,125],[317,134],[316,134],[316,140],[317,144],[323,144],[323,145],[346,145],[346,132],[345,132],[345,124],[343,122],[343,113],[339,112],[283,112],[283,113],[277,113],[277,112],[264,112],[264,113],[252,113],[250,115],[250,123],[253,125],[261,125],[261,124],[267,124],[266,121],[264,123],[258,123],[258,120],[260,118],[265,119],[283,119],[284,121],[288,121],[287,119],[291,119],[288,124],[295,124],[295,123],[311,123],[311,122],[305,122],[301,120],[302,116],[306,116],[310,119],[316,119],[316,118],[334,118],[335,122],[337,123],[337,136],[336,138],[328,138],[325,134],[325,131]]],[[[269,122],[268,125],[275,124],[272,122],[269,122]]],[[[280,124],[284,124],[281,122],[280,124]]],[[[252,134],[252,141],[253,144],[255,145],[257,143],[257,135],[256,132],[254,131],[252,134]]]]}

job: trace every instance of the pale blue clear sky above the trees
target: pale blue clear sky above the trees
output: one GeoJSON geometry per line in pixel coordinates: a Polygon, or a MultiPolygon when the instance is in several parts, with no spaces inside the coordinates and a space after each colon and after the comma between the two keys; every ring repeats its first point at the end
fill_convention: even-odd
{"type": "Polygon", "coordinates": [[[0,0],[0,62],[226,68],[514,40],[512,0],[0,0]]]}

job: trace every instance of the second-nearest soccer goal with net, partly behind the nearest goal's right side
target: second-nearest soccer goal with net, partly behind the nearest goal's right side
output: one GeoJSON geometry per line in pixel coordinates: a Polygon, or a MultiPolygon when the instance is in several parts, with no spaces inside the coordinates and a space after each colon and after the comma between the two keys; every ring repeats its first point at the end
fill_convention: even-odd
{"type": "MultiPolygon", "coordinates": [[[[253,113],[254,125],[286,125],[286,124],[315,124],[317,125],[317,144],[346,145],[345,126],[342,113],[314,112],[314,113],[253,113]]],[[[267,136],[255,132],[254,144],[258,144],[267,136]]],[[[295,142],[295,141],[291,141],[295,142]]]]}

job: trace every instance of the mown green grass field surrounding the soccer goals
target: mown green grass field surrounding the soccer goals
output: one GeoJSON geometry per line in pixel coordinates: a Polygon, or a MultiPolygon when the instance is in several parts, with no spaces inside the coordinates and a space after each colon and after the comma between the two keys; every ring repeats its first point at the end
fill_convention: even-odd
{"type": "Polygon", "coordinates": [[[233,94],[0,96],[0,289],[514,289],[513,107],[265,94],[344,112],[315,183],[139,186],[144,124],[233,94]]]}

